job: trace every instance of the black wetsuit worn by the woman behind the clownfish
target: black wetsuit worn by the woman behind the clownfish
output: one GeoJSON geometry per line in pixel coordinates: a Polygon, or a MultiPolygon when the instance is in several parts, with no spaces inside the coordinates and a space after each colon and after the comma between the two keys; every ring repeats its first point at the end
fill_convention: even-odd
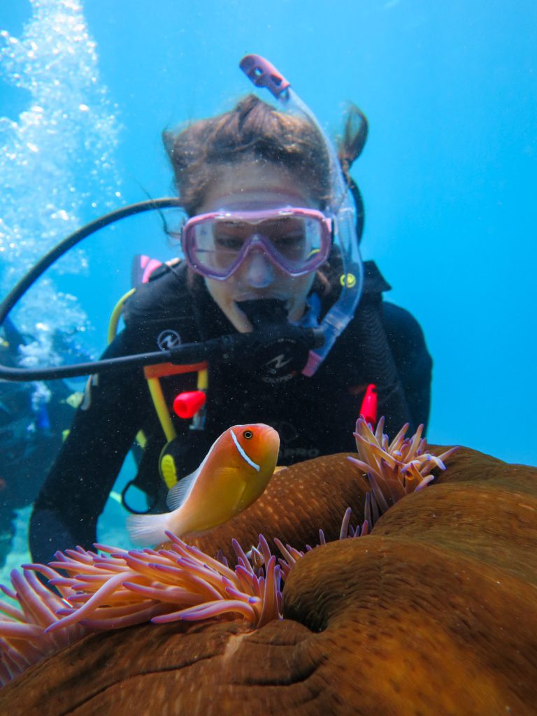
{"type": "MultiPolygon", "coordinates": [[[[269,384],[260,379],[256,366],[241,369],[211,362],[205,430],[190,430],[190,421],[174,416],[180,476],[195,470],[216,437],[236,423],[275,427],[281,438],[281,465],[352,451],[352,432],[369,383],[377,384],[379,416],[385,415],[388,434],[407,421],[413,428],[427,422],[432,361],[422,330],[407,311],[382,301],[382,291],[390,286],[374,263],[367,262],[365,268],[357,312],[313,377],[299,374],[269,384]]],[[[126,327],[105,357],[154,352],[165,331],[176,332],[183,343],[235,333],[200,277],[188,285],[185,266],[153,276],[127,301],[126,327]]],[[[90,382],[87,400],[35,503],[30,544],[37,561],[49,560],[58,548],[92,545],[97,518],[140,429],[147,436],[140,484],[147,493],[160,494],[156,511],[165,511],[166,490],[158,472],[165,437],[142,369],[100,374],[90,382]]],[[[196,374],[161,382],[171,408],[178,392],[195,390],[196,374]]]]}

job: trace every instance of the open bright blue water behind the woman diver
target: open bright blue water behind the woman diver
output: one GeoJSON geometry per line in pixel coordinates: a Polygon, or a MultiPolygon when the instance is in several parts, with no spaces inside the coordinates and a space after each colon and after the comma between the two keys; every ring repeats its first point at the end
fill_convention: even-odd
{"type": "MultiPolygon", "coordinates": [[[[160,132],[249,92],[243,54],[271,59],[331,132],[346,100],[364,110],[369,139],[352,170],[366,206],[362,248],[392,285],[387,298],[424,329],[434,359],[429,440],[537,465],[537,4],[91,0],[83,8],[99,81],[117,105],[118,206],[172,192],[160,132]]],[[[17,37],[30,14],[24,1],[4,3],[0,26],[17,37]]],[[[6,84],[0,92],[1,114],[16,119],[26,93],[6,84]]],[[[22,211],[25,201],[22,190],[22,211]]],[[[105,197],[95,203],[81,221],[105,197]]],[[[89,317],[95,352],[130,286],[132,253],[168,258],[166,241],[158,217],[125,221],[87,242],[85,275],[54,279],[89,317]]]]}

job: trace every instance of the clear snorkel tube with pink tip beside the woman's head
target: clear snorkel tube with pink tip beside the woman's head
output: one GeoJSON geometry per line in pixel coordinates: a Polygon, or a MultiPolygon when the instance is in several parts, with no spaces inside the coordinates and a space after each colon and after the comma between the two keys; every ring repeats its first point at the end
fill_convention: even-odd
{"type": "Polygon", "coordinates": [[[343,271],[339,279],[342,290],[319,326],[324,334],[324,344],[309,352],[306,366],[302,369],[304,375],[311,377],[349,324],[362,294],[364,272],[356,232],[356,211],[349,187],[344,182],[344,175],[334,145],[317,122],[313,112],[294,92],[291,84],[274,65],[256,54],[248,54],[243,57],[239,67],[256,87],[269,89],[284,111],[299,114],[311,122],[323,137],[329,156],[330,191],[325,213],[332,218],[334,243],[339,246],[342,257],[343,271]]]}

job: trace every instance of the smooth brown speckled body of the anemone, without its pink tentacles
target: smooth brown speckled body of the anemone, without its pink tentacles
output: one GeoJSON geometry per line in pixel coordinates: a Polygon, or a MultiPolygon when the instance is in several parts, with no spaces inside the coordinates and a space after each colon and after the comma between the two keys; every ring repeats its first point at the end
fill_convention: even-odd
{"type": "MultiPolygon", "coordinates": [[[[4,687],[0,711],[533,714],[537,470],[461,449],[434,473],[372,533],[300,558],[283,620],[92,634],[4,687]]],[[[216,553],[230,533],[247,547],[262,531],[314,544],[319,527],[336,539],[367,491],[347,455],[300,463],[196,543],[216,553]]]]}

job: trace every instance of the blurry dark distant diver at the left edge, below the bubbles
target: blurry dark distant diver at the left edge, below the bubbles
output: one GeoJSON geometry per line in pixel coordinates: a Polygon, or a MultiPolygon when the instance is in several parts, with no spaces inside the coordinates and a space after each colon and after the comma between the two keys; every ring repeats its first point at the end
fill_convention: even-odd
{"type": "MultiPolygon", "coordinates": [[[[6,319],[0,336],[1,363],[18,365],[32,341],[6,319]]],[[[39,492],[77,402],[63,381],[0,380],[0,566],[11,550],[14,511],[30,505],[39,492]]]]}

